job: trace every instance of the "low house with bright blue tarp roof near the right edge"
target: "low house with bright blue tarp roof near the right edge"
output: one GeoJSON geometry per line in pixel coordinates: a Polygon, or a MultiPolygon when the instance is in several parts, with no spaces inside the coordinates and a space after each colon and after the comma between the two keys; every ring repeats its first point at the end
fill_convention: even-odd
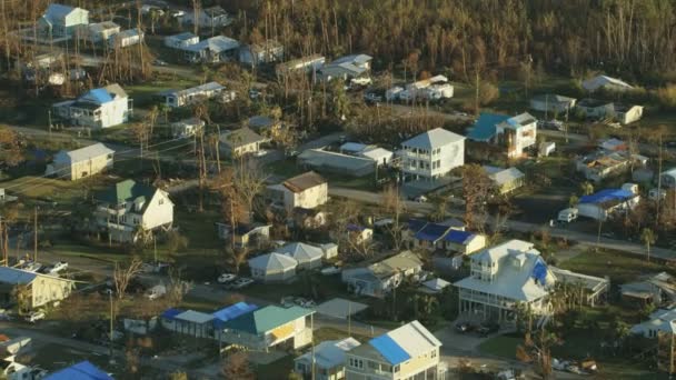
{"type": "Polygon", "coordinates": [[[577,210],[580,217],[606,220],[610,214],[627,212],[638,204],[640,197],[623,189],[605,189],[579,199],[577,210]]]}

